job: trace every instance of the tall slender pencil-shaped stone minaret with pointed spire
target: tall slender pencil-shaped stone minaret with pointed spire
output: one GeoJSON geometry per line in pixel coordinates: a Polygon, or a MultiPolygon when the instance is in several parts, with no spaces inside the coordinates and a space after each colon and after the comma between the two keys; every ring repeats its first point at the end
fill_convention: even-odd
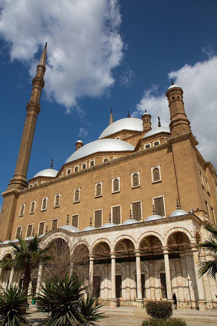
{"type": "Polygon", "coordinates": [[[32,94],[30,96],[30,101],[26,105],[26,119],[23,127],[22,138],[20,143],[20,149],[17,157],[17,164],[14,172],[13,178],[8,184],[7,190],[12,188],[23,189],[27,186],[27,170],[29,165],[29,157],[32,148],[32,141],[36,126],[37,115],[40,112],[40,96],[41,90],[44,87],[44,73],[46,64],[46,51],[47,42],[45,44],[44,50],[42,52],[40,61],[36,69],[36,77],[33,78],[32,84],[32,94]]]}

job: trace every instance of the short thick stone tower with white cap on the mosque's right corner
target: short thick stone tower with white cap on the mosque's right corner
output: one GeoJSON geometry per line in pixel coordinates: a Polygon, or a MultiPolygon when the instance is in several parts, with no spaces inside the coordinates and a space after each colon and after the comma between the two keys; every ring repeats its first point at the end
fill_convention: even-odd
{"type": "Polygon", "coordinates": [[[169,102],[171,137],[185,134],[191,130],[190,121],[185,114],[183,91],[181,87],[172,85],[167,89],[166,96],[169,102]]]}

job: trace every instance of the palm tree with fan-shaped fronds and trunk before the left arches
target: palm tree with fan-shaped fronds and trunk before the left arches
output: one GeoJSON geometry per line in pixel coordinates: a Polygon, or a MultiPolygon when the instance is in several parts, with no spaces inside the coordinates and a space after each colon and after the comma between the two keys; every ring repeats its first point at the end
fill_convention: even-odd
{"type": "Polygon", "coordinates": [[[12,258],[5,257],[0,260],[0,267],[14,270],[23,271],[23,288],[27,291],[29,282],[31,280],[31,272],[38,267],[39,263],[52,259],[46,255],[46,252],[51,246],[41,248],[40,239],[36,236],[33,239],[24,241],[18,238],[19,242],[11,242],[12,258]]]}

